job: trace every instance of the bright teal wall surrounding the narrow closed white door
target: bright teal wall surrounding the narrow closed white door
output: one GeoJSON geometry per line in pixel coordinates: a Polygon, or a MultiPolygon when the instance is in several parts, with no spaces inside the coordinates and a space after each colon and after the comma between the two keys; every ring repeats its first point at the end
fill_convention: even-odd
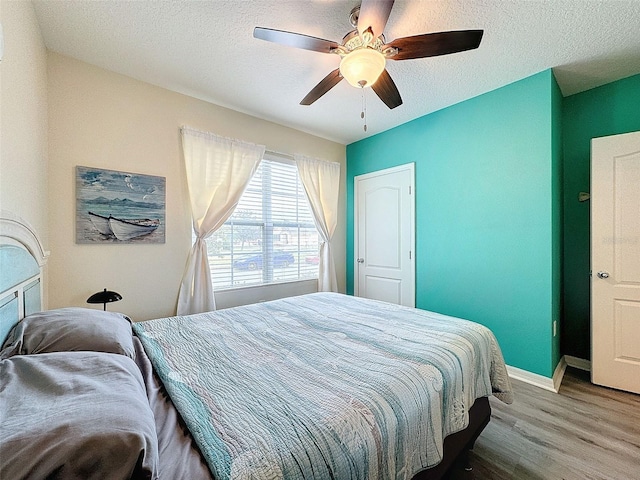
{"type": "Polygon", "coordinates": [[[507,364],[551,377],[561,103],[547,70],[348,145],[347,292],[354,177],[415,162],[416,306],[488,326],[507,364]]]}

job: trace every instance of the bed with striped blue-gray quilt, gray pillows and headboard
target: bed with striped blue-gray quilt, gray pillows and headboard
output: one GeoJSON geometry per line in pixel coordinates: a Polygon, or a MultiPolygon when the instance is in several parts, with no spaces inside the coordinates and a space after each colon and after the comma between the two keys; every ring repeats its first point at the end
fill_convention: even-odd
{"type": "Polygon", "coordinates": [[[346,295],[39,312],[39,254],[2,228],[28,268],[0,283],[23,299],[2,315],[0,478],[441,478],[488,397],[512,401],[485,327],[346,295]]]}

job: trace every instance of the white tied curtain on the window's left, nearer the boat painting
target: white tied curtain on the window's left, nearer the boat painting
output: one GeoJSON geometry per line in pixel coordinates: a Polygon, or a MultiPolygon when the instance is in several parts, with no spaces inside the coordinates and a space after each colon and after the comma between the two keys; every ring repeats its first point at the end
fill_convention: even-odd
{"type": "Polygon", "coordinates": [[[205,239],[231,216],[265,147],[182,128],[193,230],[197,236],[180,285],[178,315],[216,309],[205,239]]]}

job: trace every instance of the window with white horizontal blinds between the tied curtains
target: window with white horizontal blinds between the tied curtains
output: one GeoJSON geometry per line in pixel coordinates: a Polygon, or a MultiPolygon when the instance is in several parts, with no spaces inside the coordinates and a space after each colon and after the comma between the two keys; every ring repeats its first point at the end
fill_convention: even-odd
{"type": "Polygon", "coordinates": [[[215,289],[318,278],[319,236],[295,164],[263,158],[207,249],[215,289]]]}

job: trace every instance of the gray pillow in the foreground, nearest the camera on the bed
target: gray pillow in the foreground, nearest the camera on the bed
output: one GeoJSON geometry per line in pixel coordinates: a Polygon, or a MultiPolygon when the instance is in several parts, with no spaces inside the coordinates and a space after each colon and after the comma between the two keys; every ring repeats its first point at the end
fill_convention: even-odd
{"type": "Polygon", "coordinates": [[[0,478],[158,478],[155,420],[136,363],[55,352],[0,360],[0,478]]]}

